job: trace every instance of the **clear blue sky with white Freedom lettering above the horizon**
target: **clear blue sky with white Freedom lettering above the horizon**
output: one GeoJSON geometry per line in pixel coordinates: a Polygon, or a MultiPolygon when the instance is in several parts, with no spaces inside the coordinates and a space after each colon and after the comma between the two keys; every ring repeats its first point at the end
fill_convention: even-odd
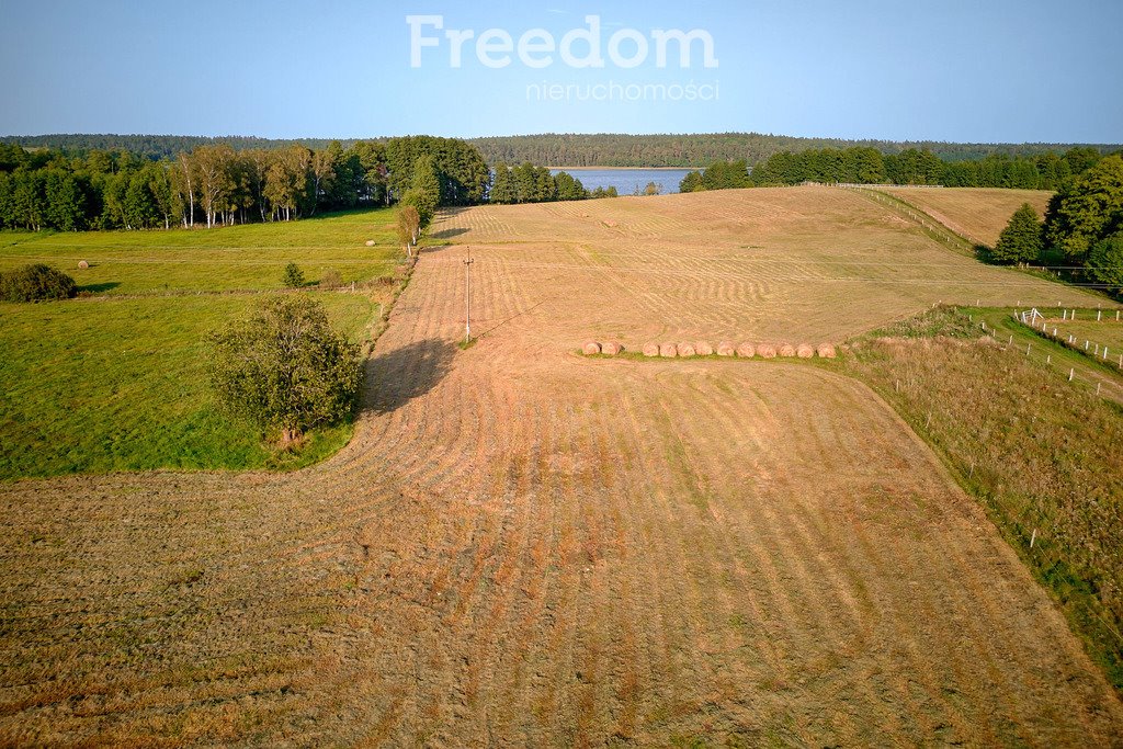
{"type": "MultiPolygon", "coordinates": [[[[0,18],[2,135],[1123,141],[1123,0],[0,0],[0,18]],[[408,16],[442,17],[439,30],[418,26],[438,46],[420,48],[417,67],[408,16]],[[567,31],[590,31],[587,16],[600,19],[603,67],[560,55],[567,31]],[[551,64],[517,51],[504,67],[484,64],[476,44],[491,28],[496,49],[504,31],[518,45],[545,29],[554,53],[526,57],[551,64]],[[474,31],[459,67],[449,29],[474,31]],[[697,40],[690,67],[675,43],[660,67],[652,33],[673,29],[707,33],[716,66],[704,66],[697,40]],[[637,66],[611,60],[618,33],[618,58],[637,66]]],[[[587,61],[590,45],[569,52],[587,61]]]]}

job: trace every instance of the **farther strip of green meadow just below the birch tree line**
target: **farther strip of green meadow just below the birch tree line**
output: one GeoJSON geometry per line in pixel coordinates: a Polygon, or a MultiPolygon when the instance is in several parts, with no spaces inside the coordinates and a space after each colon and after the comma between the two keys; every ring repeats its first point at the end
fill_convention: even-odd
{"type": "Polygon", "coordinates": [[[390,275],[399,254],[390,209],[193,231],[0,232],[0,271],[47,263],[95,293],[267,290],[294,262],[310,282],[390,275]],[[374,240],[374,247],[366,241],[374,240]],[[80,261],[90,264],[79,270],[80,261]]]}

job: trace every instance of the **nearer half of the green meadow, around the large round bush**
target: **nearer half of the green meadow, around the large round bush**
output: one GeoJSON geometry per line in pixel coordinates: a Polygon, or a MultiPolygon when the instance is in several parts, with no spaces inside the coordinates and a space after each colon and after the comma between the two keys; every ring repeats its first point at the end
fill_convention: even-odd
{"type": "MultiPolygon", "coordinates": [[[[318,293],[353,338],[377,305],[318,293]]],[[[89,300],[3,304],[0,478],[148,468],[245,468],[314,462],[349,426],[314,433],[277,458],[249,424],[231,421],[207,385],[202,337],[252,298],[89,300]]]]}

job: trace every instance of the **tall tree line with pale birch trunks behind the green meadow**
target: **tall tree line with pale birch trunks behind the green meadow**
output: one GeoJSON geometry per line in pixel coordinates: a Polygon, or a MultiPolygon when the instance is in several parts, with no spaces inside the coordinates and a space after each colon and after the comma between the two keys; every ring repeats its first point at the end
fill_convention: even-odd
{"type": "Polygon", "coordinates": [[[300,144],[236,150],[220,143],[159,161],[0,145],[0,227],[213,227],[395,200],[431,217],[438,205],[483,201],[490,180],[476,148],[427,136],[346,148],[331,141],[320,150],[300,144]]]}

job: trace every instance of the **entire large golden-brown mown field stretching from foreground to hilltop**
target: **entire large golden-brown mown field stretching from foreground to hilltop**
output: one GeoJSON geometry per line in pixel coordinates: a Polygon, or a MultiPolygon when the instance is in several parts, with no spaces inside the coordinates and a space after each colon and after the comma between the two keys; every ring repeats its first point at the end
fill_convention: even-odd
{"type": "Polygon", "coordinates": [[[873,391],[574,353],[1090,298],[830,189],[433,234],[458,244],[417,266],[331,460],[0,486],[0,743],[1121,742],[1062,616],[873,391]]]}

